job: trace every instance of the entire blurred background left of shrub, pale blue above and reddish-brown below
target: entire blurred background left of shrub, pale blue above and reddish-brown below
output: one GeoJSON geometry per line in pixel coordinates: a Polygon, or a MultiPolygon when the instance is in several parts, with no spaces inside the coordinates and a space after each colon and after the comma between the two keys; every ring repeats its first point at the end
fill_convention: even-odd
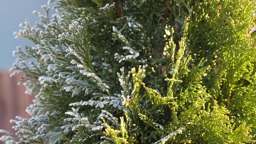
{"type": "Polygon", "coordinates": [[[34,97],[25,95],[24,86],[17,85],[22,77],[21,74],[10,77],[9,70],[16,60],[13,51],[16,50],[17,46],[33,46],[24,38],[15,39],[13,32],[19,32],[19,29],[21,29],[19,24],[25,22],[25,19],[28,19],[29,23],[34,25],[39,19],[32,14],[32,11],[36,10],[43,13],[41,5],[47,5],[47,1],[1,0],[0,4],[0,129],[12,133],[15,132],[11,128],[13,124],[10,124],[10,119],[14,119],[17,115],[29,118],[25,109],[31,104],[34,97]]]}

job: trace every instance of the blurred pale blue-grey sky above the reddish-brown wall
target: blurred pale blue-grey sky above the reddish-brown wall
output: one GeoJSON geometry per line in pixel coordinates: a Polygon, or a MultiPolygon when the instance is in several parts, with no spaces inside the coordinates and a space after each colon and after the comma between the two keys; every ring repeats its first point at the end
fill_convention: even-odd
{"type": "Polygon", "coordinates": [[[32,11],[42,12],[41,5],[47,5],[47,0],[0,0],[0,70],[9,70],[12,67],[16,60],[13,50],[17,46],[31,46],[24,38],[14,38],[13,32],[19,31],[19,24],[25,19],[34,25],[39,19],[32,11]]]}

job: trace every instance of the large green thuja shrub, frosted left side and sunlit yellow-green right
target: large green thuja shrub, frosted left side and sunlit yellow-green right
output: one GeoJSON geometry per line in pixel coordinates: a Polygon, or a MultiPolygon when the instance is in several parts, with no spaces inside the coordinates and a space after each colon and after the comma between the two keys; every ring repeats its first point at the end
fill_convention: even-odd
{"type": "Polygon", "coordinates": [[[3,142],[255,142],[255,1],[48,3],[16,33],[36,96],[3,142]]]}

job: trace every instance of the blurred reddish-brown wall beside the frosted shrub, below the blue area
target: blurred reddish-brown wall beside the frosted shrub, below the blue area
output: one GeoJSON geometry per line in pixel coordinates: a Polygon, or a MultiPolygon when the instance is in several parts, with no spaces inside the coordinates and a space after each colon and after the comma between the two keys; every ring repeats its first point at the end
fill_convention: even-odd
{"type": "Polygon", "coordinates": [[[17,85],[20,79],[21,74],[10,77],[10,72],[0,71],[0,129],[11,133],[15,131],[11,128],[13,124],[10,124],[10,119],[17,115],[29,118],[25,109],[32,103],[33,98],[32,95],[25,94],[25,86],[17,85]]]}

